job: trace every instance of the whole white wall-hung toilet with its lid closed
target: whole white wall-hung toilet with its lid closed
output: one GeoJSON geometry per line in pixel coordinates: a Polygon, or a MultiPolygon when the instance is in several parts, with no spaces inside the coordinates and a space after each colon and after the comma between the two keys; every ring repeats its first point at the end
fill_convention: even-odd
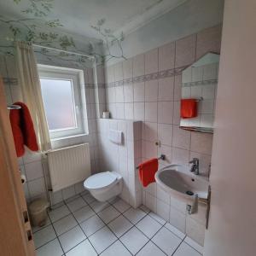
{"type": "Polygon", "coordinates": [[[84,188],[97,201],[108,201],[122,192],[123,177],[118,172],[100,172],[86,178],[84,188]]]}

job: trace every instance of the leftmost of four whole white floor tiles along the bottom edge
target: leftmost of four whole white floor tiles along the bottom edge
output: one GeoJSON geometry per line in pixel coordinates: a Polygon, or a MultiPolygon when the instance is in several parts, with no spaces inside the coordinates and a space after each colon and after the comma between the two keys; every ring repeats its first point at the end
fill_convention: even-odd
{"type": "Polygon", "coordinates": [[[65,253],[79,244],[79,242],[86,239],[83,231],[79,226],[73,228],[72,230],[67,231],[66,233],[59,236],[61,241],[61,246],[65,253]]]}

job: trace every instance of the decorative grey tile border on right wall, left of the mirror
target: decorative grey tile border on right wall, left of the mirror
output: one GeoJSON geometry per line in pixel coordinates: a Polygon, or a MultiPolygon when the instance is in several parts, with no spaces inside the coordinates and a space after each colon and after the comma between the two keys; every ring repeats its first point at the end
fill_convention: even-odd
{"type": "Polygon", "coordinates": [[[143,76],[138,76],[136,78],[131,78],[131,79],[124,79],[124,80],[116,81],[106,85],[107,87],[117,87],[125,84],[142,83],[142,82],[147,82],[155,79],[170,78],[170,77],[181,74],[183,69],[186,67],[189,67],[189,66],[167,69],[167,70],[159,71],[156,73],[148,73],[143,76]]]}

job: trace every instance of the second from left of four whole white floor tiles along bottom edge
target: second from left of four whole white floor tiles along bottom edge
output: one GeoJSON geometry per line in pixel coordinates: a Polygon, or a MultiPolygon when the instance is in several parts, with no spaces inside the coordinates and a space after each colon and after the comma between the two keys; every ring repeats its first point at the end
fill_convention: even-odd
{"type": "Polygon", "coordinates": [[[95,234],[89,237],[89,240],[93,247],[95,247],[97,253],[102,253],[107,247],[109,247],[114,241],[117,240],[111,230],[108,227],[104,227],[102,230],[96,231],[95,234]]]}

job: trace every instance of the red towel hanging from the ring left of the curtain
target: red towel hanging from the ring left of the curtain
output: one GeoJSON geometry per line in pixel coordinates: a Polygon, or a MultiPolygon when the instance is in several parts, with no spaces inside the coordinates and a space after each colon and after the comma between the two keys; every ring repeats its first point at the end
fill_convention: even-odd
{"type": "Polygon", "coordinates": [[[9,119],[15,140],[16,154],[18,157],[25,153],[24,145],[32,151],[38,151],[38,141],[28,108],[22,102],[15,102],[20,109],[11,109],[9,119]]]}

